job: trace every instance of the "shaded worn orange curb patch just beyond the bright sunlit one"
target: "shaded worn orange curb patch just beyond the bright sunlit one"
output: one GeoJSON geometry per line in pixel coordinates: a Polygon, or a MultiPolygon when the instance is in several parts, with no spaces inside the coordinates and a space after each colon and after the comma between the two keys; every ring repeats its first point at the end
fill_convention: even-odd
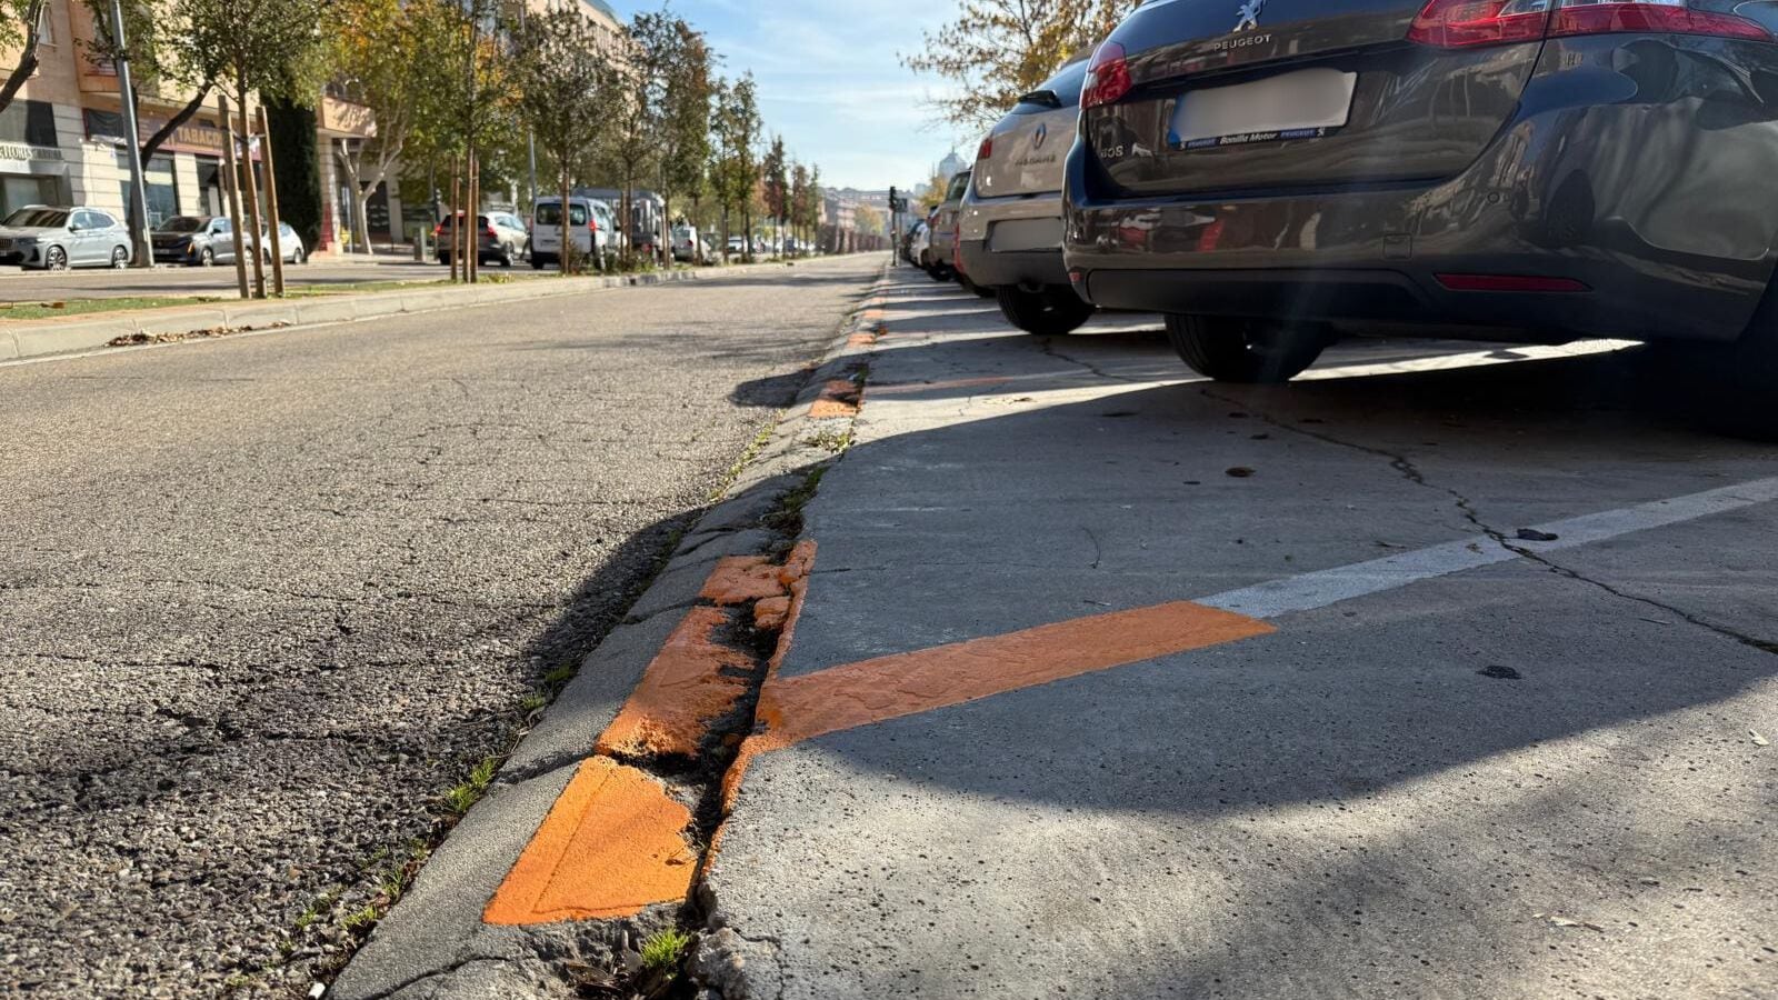
{"type": "MultiPolygon", "coordinates": [[[[772,585],[773,593],[782,593],[775,578],[772,585]]],[[[731,676],[725,669],[754,669],[749,653],[717,642],[717,630],[727,623],[729,612],[722,609],[692,609],[649,662],[642,683],[596,749],[624,756],[695,756],[709,722],[734,710],[747,694],[745,676],[731,676]]]]}

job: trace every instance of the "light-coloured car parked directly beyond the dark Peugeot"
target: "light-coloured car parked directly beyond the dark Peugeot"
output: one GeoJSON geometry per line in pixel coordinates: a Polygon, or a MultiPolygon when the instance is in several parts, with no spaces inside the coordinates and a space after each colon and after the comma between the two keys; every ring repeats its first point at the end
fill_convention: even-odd
{"type": "Polygon", "coordinates": [[[1093,306],[1061,262],[1061,180],[1081,112],[1086,53],[1063,66],[981,141],[958,222],[957,270],[999,301],[1012,326],[1074,333],[1093,306]]]}

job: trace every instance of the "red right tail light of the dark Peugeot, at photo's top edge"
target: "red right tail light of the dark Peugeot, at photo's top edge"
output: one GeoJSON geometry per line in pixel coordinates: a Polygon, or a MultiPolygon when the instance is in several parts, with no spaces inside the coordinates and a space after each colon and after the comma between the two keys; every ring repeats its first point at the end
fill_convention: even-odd
{"type": "Polygon", "coordinates": [[[1438,48],[1476,48],[1543,37],[1648,32],[1774,41],[1764,25],[1735,14],[1694,11],[1687,0],[1430,0],[1408,39],[1438,48]]]}

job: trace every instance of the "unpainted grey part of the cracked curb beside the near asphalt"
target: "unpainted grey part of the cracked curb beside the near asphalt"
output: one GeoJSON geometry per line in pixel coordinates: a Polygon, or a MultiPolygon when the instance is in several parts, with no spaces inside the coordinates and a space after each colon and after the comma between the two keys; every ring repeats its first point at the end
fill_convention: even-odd
{"type": "MultiPolygon", "coordinates": [[[[733,270],[725,270],[729,274],[733,270]]],[[[491,927],[482,909],[517,861],[532,833],[567,788],[594,742],[617,717],[649,662],[695,603],[715,562],[756,553],[770,541],[761,518],[804,482],[805,470],[836,456],[809,445],[809,406],[821,386],[857,363],[850,347],[878,304],[885,276],[843,320],[839,336],[807,386],[777,423],[759,456],[699,518],[631,614],[587,655],[580,674],[501,767],[487,795],[432,854],[412,890],[377,925],[327,991],[334,1000],[444,1000],[500,995],[514,1000],[567,996],[555,964],[576,956],[612,954],[619,934],[631,940],[670,925],[677,906],[635,920],[491,927]],[[491,993],[496,984],[496,993],[491,993]]]]}

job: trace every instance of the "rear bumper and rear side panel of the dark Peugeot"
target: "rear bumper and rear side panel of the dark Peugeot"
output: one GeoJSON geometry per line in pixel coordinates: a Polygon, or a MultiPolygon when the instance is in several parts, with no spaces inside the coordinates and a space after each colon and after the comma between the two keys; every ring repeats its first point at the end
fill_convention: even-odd
{"type": "Polygon", "coordinates": [[[1737,77],[1748,60],[1778,62],[1755,44],[1552,41],[1518,117],[1438,181],[1120,198],[1077,142],[1065,215],[1076,290],[1118,310],[1488,327],[1502,340],[1734,340],[1774,267],[1778,203],[1735,192],[1778,173],[1778,109],[1703,91],[1600,103],[1641,93],[1630,78],[1606,87],[1636,68],[1620,59],[1627,39],[1723,71],[1734,57],[1737,77]],[[1705,110],[1748,126],[1714,128],[1705,110]],[[1584,290],[1458,292],[1440,276],[1584,290]]]}

